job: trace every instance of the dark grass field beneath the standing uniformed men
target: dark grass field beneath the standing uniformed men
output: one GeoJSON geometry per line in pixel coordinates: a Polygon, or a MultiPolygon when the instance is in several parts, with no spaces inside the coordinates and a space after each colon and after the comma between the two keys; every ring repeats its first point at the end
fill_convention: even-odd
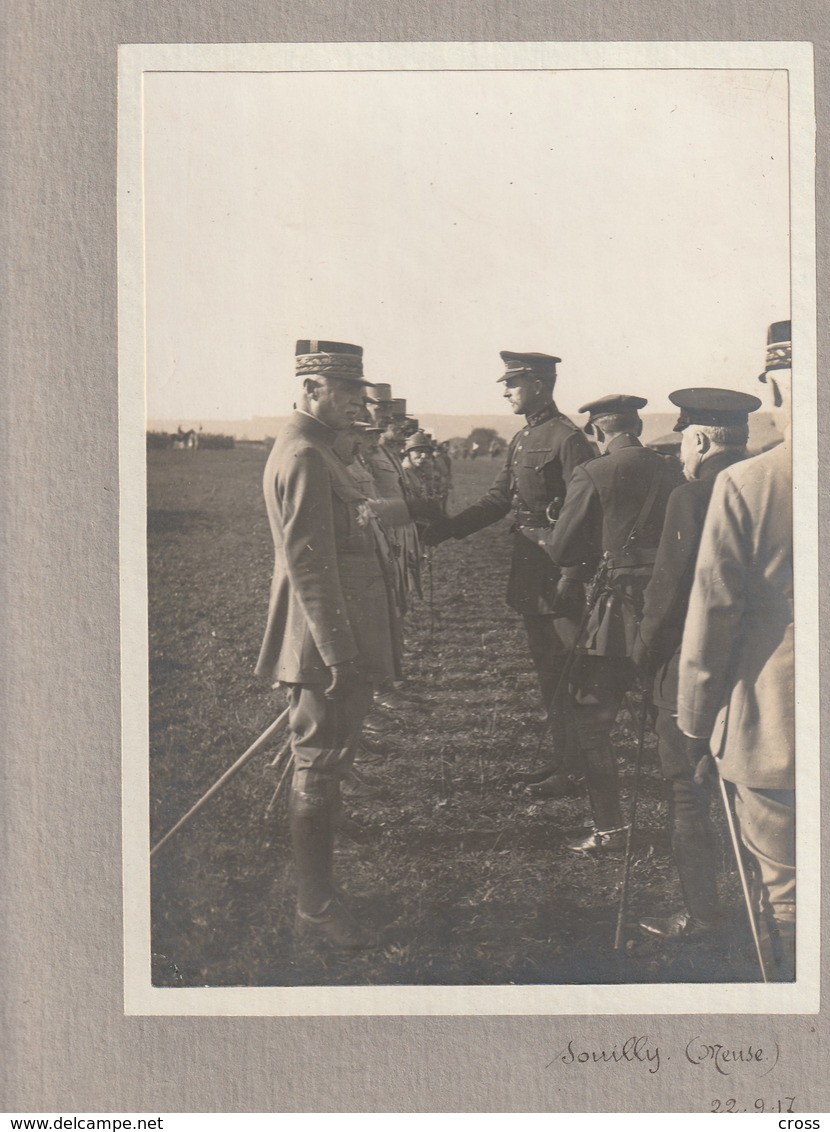
{"type": "MultiPolygon", "coordinates": [[[[272,543],[262,447],[148,453],[151,805],[155,842],[274,719],[280,692],[254,676],[272,543]]],[[[453,509],[496,465],[455,464],[453,509]]],[[[722,837],[726,924],[698,943],[639,941],[635,921],[674,911],[679,887],[649,738],[632,868],[632,944],[613,949],[622,855],[567,855],[583,797],[538,804],[510,777],[532,762],[540,702],[519,618],[505,606],[507,523],[445,543],[434,615],[408,618],[405,670],[420,702],[378,720],[391,753],[362,765],[383,797],[348,803],[365,840],[336,866],[377,950],[343,957],[293,942],[284,808],[254,760],[153,864],[153,979],[160,986],[747,981],[758,978],[722,837]],[[430,624],[431,621],[431,624],[430,624]]],[[[428,586],[427,586],[428,589],[428,586]]],[[[624,804],[633,726],[615,743],[624,804]]]]}

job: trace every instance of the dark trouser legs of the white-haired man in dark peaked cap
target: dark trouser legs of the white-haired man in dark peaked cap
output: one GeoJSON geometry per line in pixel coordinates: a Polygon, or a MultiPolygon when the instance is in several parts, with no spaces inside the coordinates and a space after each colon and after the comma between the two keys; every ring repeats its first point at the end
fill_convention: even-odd
{"type": "Polygon", "coordinates": [[[712,924],[718,918],[718,884],[711,788],[708,782],[695,783],[685,736],[668,707],[658,709],[657,736],[660,766],[669,783],[669,835],[683,900],[690,916],[712,924]]]}

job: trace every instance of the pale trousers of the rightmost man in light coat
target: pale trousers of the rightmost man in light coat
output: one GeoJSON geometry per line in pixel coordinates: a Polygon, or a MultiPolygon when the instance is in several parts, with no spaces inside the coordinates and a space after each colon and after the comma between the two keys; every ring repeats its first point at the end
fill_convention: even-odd
{"type": "Polygon", "coordinates": [[[760,911],[770,924],[778,977],[795,977],[795,791],[755,790],[738,783],[735,811],[741,838],[755,858],[760,911]]]}

